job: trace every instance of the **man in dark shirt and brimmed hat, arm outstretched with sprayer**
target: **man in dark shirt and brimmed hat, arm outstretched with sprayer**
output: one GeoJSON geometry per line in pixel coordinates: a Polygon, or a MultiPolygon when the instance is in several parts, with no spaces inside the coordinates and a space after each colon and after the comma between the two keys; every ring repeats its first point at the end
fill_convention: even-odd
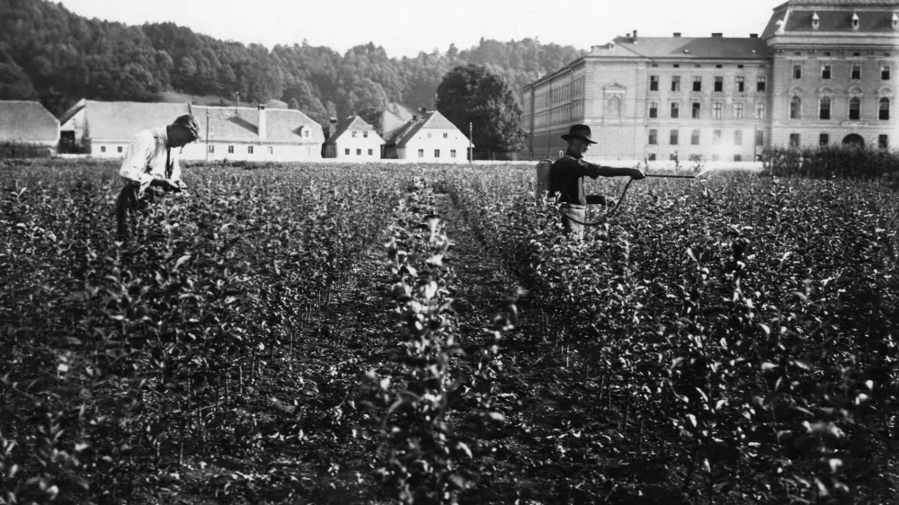
{"type": "Polygon", "coordinates": [[[549,170],[549,194],[559,193],[558,201],[562,203],[562,225],[565,227],[565,233],[576,235],[579,240],[583,239],[583,225],[575,221],[584,222],[587,217],[587,205],[606,203],[605,197],[584,194],[585,175],[592,179],[599,176],[645,178],[643,171],[636,168],[615,168],[583,161],[583,155],[590,145],[596,144],[590,135],[590,127],[586,125],[571,127],[568,134],[562,136],[568,142],[568,150],[549,170]]]}

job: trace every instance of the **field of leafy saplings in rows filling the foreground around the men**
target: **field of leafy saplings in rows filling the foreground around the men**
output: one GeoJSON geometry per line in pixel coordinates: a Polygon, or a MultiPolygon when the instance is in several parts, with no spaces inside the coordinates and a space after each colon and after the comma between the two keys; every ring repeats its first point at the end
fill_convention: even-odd
{"type": "Polygon", "coordinates": [[[878,182],[3,163],[0,504],[899,502],[878,182]]]}

